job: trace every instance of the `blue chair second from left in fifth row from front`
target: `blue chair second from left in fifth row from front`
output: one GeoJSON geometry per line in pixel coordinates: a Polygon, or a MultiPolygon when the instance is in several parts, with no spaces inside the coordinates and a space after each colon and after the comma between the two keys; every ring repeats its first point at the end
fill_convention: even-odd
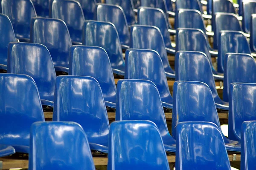
{"type": "Polygon", "coordinates": [[[82,42],[82,29],[85,19],[79,2],[74,0],[54,0],[50,15],[52,18],[63,20],[67,24],[72,41],[82,42]]]}

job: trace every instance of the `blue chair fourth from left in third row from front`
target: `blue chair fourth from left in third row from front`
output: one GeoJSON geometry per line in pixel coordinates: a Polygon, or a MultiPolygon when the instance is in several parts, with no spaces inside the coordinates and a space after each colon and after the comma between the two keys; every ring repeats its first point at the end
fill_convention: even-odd
{"type": "Polygon", "coordinates": [[[218,96],[212,76],[211,64],[202,52],[180,51],[175,55],[175,72],[178,81],[201,81],[209,86],[218,109],[228,110],[228,102],[218,96]]]}

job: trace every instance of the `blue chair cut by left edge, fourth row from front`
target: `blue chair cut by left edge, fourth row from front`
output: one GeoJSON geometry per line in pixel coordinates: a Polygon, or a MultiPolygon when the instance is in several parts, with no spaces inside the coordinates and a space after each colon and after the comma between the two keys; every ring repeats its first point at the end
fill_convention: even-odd
{"type": "Polygon", "coordinates": [[[16,38],[12,28],[12,23],[4,14],[0,14],[0,35],[0,70],[1,72],[6,72],[8,44],[10,42],[15,42],[16,38]]]}

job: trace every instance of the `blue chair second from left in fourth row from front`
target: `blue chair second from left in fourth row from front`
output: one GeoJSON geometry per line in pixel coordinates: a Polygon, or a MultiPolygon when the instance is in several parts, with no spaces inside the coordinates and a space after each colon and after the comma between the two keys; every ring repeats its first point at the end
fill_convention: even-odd
{"type": "Polygon", "coordinates": [[[69,51],[72,42],[64,21],[52,18],[33,18],[31,42],[41,43],[47,47],[56,72],[68,73],[69,51]]]}

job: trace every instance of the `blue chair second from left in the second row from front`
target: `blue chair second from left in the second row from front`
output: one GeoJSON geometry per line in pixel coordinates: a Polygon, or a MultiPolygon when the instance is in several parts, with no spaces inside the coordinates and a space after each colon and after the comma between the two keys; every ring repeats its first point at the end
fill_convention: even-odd
{"type": "Polygon", "coordinates": [[[108,153],[108,113],[98,81],[87,76],[58,76],[54,96],[52,120],[79,123],[91,150],[108,153]]]}

